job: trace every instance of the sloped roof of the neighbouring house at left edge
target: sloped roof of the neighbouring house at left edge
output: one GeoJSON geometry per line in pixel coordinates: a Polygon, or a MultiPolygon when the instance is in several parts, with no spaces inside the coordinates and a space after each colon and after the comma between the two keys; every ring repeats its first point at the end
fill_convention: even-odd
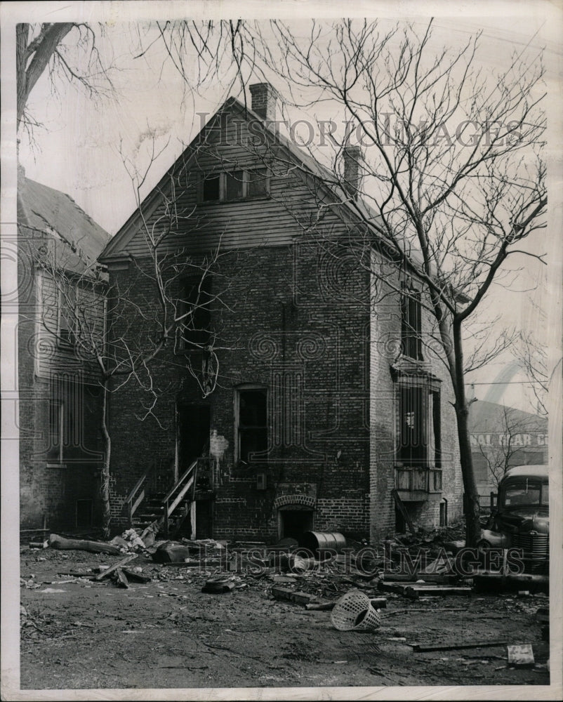
{"type": "Polygon", "coordinates": [[[94,261],[110,234],[64,192],[35,180],[18,178],[18,224],[60,237],[83,259],[94,261]]]}

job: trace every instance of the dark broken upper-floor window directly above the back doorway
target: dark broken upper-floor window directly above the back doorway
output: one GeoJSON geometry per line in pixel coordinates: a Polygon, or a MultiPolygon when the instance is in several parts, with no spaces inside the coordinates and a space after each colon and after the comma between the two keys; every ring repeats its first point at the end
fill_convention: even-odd
{"type": "Polygon", "coordinates": [[[180,348],[203,349],[211,338],[211,276],[190,276],[178,305],[180,348]]]}

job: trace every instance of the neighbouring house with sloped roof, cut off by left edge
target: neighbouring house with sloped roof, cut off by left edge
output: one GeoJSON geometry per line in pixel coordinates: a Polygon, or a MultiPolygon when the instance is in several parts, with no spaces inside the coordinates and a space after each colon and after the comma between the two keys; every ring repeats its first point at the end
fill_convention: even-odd
{"type": "Polygon", "coordinates": [[[99,522],[100,392],[79,355],[70,300],[102,329],[103,303],[84,277],[107,244],[67,194],[18,173],[20,527],[81,529],[99,522]],[[47,265],[48,264],[48,265],[47,265]],[[60,269],[65,286],[46,268],[60,269]],[[88,300],[88,304],[86,304],[88,300]]]}

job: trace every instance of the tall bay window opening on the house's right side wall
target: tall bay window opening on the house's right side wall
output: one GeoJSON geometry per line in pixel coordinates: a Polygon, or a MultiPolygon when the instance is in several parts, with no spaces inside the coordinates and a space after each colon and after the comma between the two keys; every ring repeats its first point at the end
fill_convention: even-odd
{"type": "Polygon", "coordinates": [[[397,461],[416,467],[441,466],[440,392],[427,383],[399,383],[397,461]]]}

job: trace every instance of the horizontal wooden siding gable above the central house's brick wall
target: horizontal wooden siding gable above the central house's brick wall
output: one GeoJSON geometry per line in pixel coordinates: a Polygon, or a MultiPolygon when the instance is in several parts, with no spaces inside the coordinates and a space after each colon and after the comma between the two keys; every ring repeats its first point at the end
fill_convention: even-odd
{"type": "MultiPolygon", "coordinates": [[[[315,165],[311,157],[301,153],[289,140],[282,140],[262,125],[260,139],[267,141],[267,145],[252,146],[257,125],[262,125],[260,118],[230,98],[145,198],[141,211],[144,226],[150,232],[160,234],[163,227],[172,223],[169,241],[163,248],[185,248],[190,253],[200,253],[218,246],[222,249],[284,246],[314,227],[322,226],[333,235],[359,220],[353,207],[319,180],[333,177],[329,171],[315,165]],[[249,171],[260,166],[271,171],[268,197],[199,201],[198,191],[206,174],[233,169],[249,171]]],[[[100,260],[110,263],[112,258],[123,260],[124,256],[147,253],[146,234],[140,214],[135,211],[100,260]]]]}

